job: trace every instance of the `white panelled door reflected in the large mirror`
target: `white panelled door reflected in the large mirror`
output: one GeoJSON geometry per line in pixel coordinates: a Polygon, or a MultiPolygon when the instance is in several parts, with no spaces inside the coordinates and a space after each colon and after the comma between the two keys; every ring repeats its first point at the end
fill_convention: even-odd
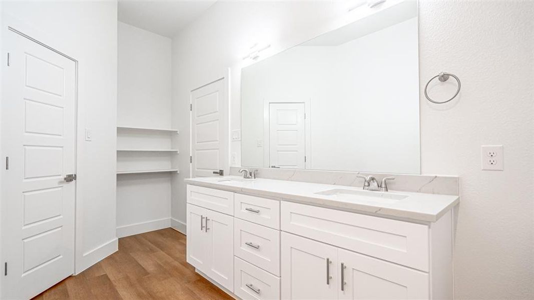
{"type": "Polygon", "coordinates": [[[269,166],[305,168],[304,103],[269,104],[269,166]]]}

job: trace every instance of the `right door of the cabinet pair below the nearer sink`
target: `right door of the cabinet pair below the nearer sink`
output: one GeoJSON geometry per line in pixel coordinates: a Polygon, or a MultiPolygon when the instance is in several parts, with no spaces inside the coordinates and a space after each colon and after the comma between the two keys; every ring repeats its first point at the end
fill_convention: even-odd
{"type": "Polygon", "coordinates": [[[339,249],[340,299],[428,299],[428,274],[339,249]],[[341,269],[341,264],[345,269],[341,269]],[[341,274],[343,272],[343,274],[341,274]]]}

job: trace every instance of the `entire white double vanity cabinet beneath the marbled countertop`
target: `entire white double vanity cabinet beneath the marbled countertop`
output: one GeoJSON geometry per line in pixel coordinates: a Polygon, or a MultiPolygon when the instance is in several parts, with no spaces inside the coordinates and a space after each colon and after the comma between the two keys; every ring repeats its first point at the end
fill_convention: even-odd
{"type": "Polygon", "coordinates": [[[415,223],[188,185],[187,262],[238,299],[452,299],[452,212],[415,223]]]}

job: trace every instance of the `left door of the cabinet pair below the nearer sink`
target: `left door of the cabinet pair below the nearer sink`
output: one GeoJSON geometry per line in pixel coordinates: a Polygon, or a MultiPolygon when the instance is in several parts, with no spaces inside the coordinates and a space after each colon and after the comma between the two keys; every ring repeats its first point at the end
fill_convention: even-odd
{"type": "Polygon", "coordinates": [[[337,248],[282,232],[282,299],[336,299],[337,248]]]}

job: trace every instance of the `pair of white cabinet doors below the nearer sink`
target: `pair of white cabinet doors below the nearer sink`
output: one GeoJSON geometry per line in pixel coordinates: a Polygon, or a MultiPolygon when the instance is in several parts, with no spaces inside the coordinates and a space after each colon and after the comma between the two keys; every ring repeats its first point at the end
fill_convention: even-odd
{"type": "Polygon", "coordinates": [[[428,274],[282,232],[282,299],[426,299],[428,274]]]}

